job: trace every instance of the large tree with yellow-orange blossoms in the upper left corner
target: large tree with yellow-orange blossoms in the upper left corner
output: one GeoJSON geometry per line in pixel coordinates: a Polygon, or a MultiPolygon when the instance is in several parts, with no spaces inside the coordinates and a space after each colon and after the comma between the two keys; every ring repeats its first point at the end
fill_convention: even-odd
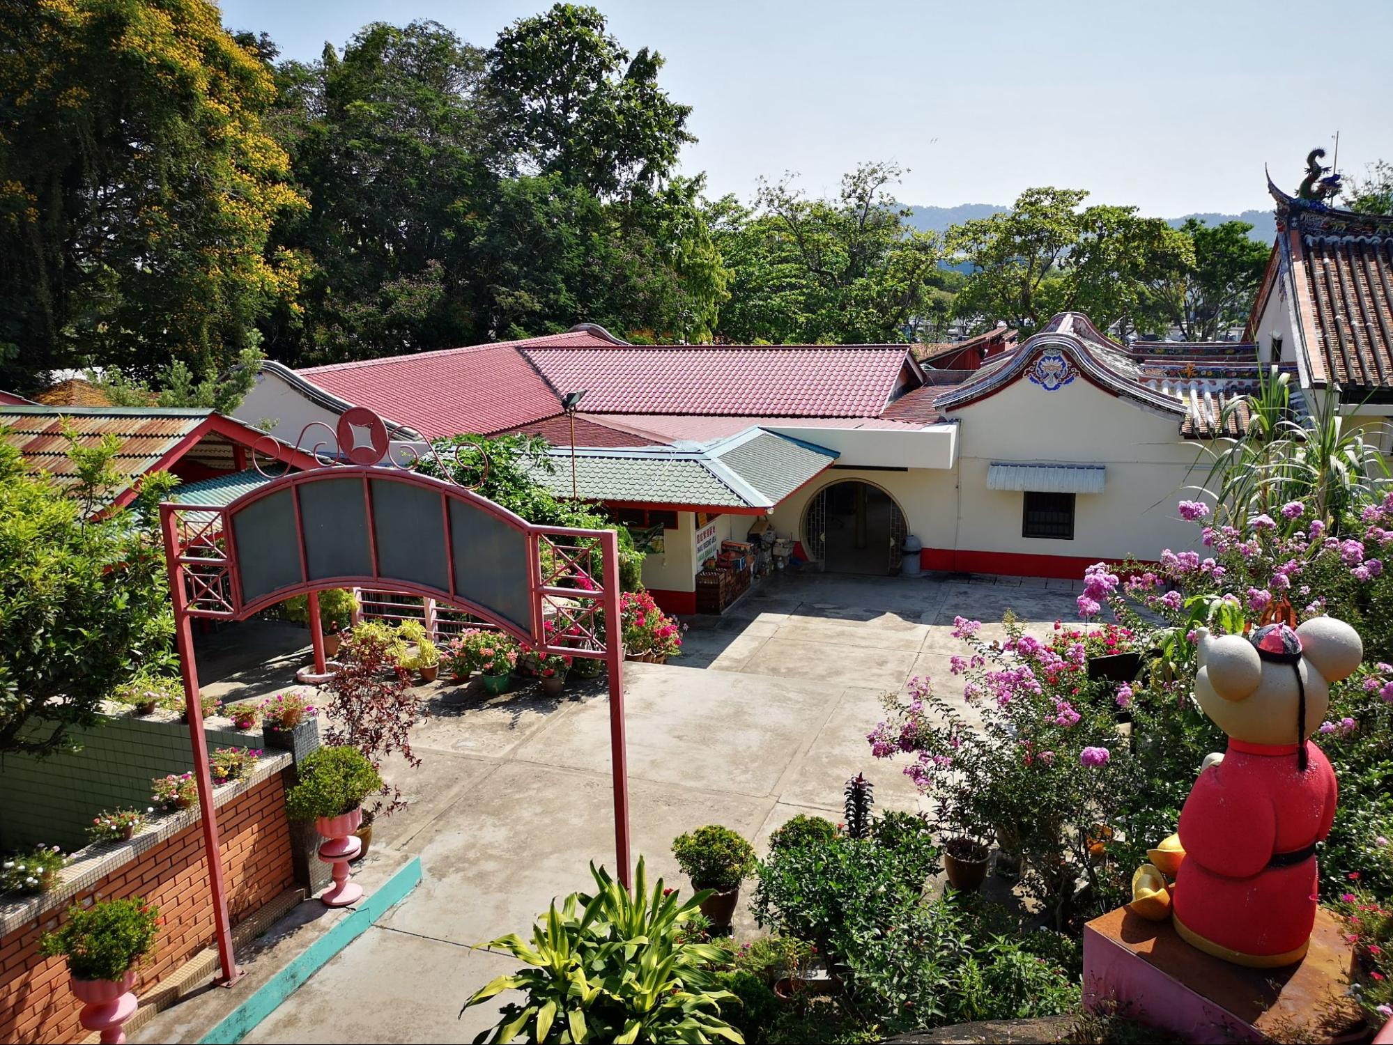
{"type": "Polygon", "coordinates": [[[6,4],[0,39],[0,385],[230,362],[298,281],[263,64],[205,0],[6,4]]]}

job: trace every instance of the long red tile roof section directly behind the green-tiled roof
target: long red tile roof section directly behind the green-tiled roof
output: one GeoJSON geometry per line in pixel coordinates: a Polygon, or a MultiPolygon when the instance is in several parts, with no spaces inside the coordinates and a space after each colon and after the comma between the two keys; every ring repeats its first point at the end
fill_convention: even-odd
{"type": "Polygon", "coordinates": [[[588,414],[876,417],[905,364],[905,346],[606,346],[522,354],[554,389],[586,389],[588,414]]]}

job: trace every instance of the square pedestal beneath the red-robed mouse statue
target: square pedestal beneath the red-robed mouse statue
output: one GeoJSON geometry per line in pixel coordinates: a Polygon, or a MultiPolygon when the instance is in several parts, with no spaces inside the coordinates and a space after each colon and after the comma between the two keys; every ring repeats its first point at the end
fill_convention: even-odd
{"type": "Polygon", "coordinates": [[[1126,907],[1084,927],[1084,1005],[1190,1042],[1346,1039],[1362,1027],[1346,999],[1354,954],[1339,920],[1316,911],[1311,949],[1284,968],[1244,968],[1195,950],[1170,921],[1126,907]]]}

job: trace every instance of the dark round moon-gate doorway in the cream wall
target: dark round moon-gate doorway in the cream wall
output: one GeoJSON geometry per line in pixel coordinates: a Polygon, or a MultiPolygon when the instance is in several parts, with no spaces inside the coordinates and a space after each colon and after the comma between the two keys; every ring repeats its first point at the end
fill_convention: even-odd
{"type": "Polygon", "coordinates": [[[808,553],[827,573],[885,575],[900,570],[904,513],[889,493],[868,482],[848,479],[814,495],[804,534],[808,553]]]}

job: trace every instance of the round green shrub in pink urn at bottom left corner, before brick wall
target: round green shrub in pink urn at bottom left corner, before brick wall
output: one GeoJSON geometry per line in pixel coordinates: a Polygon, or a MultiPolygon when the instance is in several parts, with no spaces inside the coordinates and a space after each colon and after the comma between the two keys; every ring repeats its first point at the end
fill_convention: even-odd
{"type": "Polygon", "coordinates": [[[67,922],[39,940],[43,957],[67,959],[68,986],[84,1006],[81,1023],[99,1031],[102,1041],[125,1041],[121,1024],[137,1007],[135,971],[157,934],[159,910],[132,896],[70,907],[67,922]]]}

